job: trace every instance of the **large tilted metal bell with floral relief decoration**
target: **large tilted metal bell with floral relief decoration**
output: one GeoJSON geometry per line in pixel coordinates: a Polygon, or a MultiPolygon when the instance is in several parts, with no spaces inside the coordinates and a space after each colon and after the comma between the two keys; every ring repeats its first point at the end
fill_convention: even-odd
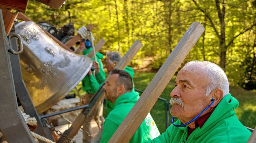
{"type": "Polygon", "coordinates": [[[65,50],[34,22],[15,25],[22,37],[22,78],[38,113],[63,99],[89,72],[89,57],[65,50]]]}

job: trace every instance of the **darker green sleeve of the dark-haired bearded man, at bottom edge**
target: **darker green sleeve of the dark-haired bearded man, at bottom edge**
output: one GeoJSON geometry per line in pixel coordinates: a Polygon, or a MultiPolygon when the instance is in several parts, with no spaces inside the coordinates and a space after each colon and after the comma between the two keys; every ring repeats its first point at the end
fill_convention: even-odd
{"type": "Polygon", "coordinates": [[[101,135],[100,143],[107,143],[112,135],[115,133],[117,128],[119,127],[113,120],[107,119],[104,122],[104,128],[101,135]]]}

